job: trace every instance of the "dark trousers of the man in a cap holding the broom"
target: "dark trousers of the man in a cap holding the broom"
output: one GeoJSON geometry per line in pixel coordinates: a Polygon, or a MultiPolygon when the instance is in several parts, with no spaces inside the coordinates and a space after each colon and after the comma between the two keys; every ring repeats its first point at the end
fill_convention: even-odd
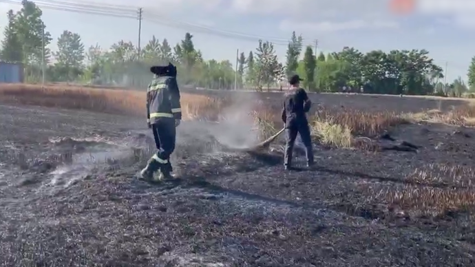
{"type": "Polygon", "coordinates": [[[306,121],[293,122],[286,125],[286,144],[284,151],[284,165],[291,166],[292,153],[295,145],[295,139],[297,139],[297,133],[302,138],[302,142],[305,146],[305,154],[308,163],[313,163],[313,147],[312,138],[310,137],[310,127],[306,121]]]}

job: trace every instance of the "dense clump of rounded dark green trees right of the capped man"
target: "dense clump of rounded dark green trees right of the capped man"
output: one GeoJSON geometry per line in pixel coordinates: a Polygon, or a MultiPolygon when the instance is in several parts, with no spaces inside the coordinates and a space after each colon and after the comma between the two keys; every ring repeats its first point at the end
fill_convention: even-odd
{"type": "MultiPolygon", "coordinates": [[[[304,73],[301,73],[304,74],[304,73]]],[[[353,47],[317,60],[315,86],[324,92],[374,94],[434,94],[443,78],[426,50],[373,50],[363,54],[353,47]]]]}

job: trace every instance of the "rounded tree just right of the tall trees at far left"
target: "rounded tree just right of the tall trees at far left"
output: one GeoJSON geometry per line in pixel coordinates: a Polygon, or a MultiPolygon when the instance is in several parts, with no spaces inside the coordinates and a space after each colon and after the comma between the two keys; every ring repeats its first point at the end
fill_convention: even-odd
{"type": "Polygon", "coordinates": [[[58,52],[54,53],[56,58],[56,72],[61,81],[74,81],[83,74],[84,45],[81,36],[65,30],[58,38],[58,52]]]}

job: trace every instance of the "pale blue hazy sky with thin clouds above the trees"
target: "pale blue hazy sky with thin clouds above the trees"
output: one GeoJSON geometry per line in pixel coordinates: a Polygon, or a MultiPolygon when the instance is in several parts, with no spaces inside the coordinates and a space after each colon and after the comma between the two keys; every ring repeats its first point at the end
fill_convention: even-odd
{"type": "MultiPolygon", "coordinates": [[[[152,36],[160,41],[166,38],[174,45],[191,32],[205,59],[232,63],[237,50],[245,54],[255,51],[258,39],[273,41],[279,59],[285,61],[286,43],[293,31],[302,34],[305,45],[314,47],[318,40],[317,52],[346,46],[361,52],[425,49],[436,64],[444,70],[447,67],[447,82],[458,76],[466,80],[468,65],[475,56],[475,17],[470,17],[475,9],[473,0],[419,0],[412,12],[405,14],[395,14],[389,0],[58,1],[100,5],[106,13],[113,10],[107,5],[130,11],[125,12],[126,17],[109,17],[52,10],[56,1],[35,1],[43,5],[43,21],[53,43],[63,30],[69,30],[80,34],[86,47],[97,43],[107,48],[120,40],[137,45],[134,10],[142,8],[142,47],[152,36]]],[[[0,0],[0,13],[4,14],[0,14],[0,27],[6,25],[8,10],[20,8],[12,3],[20,0],[7,2],[0,0]]],[[[55,45],[51,48],[54,50],[55,45]]]]}

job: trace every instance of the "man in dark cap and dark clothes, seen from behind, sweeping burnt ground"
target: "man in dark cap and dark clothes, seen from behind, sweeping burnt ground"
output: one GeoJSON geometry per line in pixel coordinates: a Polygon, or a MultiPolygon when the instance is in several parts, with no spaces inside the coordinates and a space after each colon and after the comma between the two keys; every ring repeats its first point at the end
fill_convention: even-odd
{"type": "Polygon", "coordinates": [[[305,146],[307,167],[313,164],[312,139],[310,138],[310,127],[306,113],[310,110],[312,103],[308,99],[307,93],[300,88],[300,81],[303,81],[298,75],[289,79],[291,88],[285,94],[284,107],[282,108],[282,120],[285,125],[286,146],[284,152],[284,167],[291,169],[292,152],[297,138],[300,134],[305,146]]]}

